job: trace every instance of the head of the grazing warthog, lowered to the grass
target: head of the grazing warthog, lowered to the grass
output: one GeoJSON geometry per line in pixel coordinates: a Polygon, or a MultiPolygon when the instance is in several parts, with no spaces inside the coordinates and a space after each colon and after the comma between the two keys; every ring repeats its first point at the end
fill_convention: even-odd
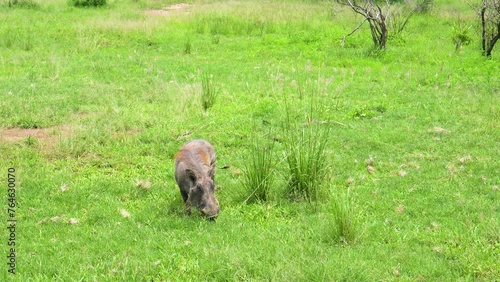
{"type": "Polygon", "coordinates": [[[189,205],[197,208],[208,219],[215,219],[219,214],[219,201],[214,195],[214,181],[208,176],[197,178],[190,169],[186,172],[193,183],[189,190],[189,205]]]}

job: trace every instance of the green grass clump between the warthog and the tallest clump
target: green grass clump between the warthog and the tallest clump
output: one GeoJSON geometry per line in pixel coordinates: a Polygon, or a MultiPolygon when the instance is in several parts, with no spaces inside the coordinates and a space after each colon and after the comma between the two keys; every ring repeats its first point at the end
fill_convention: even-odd
{"type": "Polygon", "coordinates": [[[245,162],[243,186],[248,192],[245,202],[267,201],[274,183],[274,142],[264,145],[254,141],[245,162]]]}

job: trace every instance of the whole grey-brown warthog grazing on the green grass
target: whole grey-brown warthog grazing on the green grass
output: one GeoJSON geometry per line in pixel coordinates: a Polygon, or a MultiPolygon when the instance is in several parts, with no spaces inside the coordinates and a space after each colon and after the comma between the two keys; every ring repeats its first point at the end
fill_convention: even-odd
{"type": "Polygon", "coordinates": [[[181,191],[186,212],[191,207],[209,219],[219,213],[214,195],[215,150],[205,140],[193,140],[182,146],[175,157],[175,180],[181,191]]]}

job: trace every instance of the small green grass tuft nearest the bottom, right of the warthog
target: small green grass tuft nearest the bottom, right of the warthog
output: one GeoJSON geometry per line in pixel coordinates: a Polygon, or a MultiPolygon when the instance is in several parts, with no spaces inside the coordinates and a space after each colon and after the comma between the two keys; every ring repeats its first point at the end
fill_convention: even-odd
{"type": "Polygon", "coordinates": [[[353,243],[358,238],[358,218],[349,190],[338,193],[329,206],[329,239],[336,243],[353,243]]]}

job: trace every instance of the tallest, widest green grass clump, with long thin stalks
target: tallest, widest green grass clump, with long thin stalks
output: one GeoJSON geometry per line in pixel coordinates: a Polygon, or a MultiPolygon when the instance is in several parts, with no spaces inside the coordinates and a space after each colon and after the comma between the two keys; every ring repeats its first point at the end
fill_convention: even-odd
{"type": "Polygon", "coordinates": [[[310,112],[305,124],[292,122],[288,103],[285,103],[285,156],[288,164],[288,195],[312,202],[319,198],[328,172],[326,149],[329,129],[327,124],[314,118],[318,109],[314,105],[314,93],[310,95],[310,112]]]}

